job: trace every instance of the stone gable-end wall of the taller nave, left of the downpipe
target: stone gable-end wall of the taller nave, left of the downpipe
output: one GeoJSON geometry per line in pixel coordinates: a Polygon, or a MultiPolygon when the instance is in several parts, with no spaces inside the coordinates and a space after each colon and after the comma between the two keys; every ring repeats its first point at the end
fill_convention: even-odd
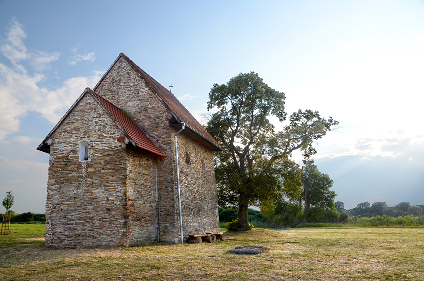
{"type": "Polygon", "coordinates": [[[174,135],[171,115],[160,99],[122,57],[109,70],[96,93],[127,112],[167,156],[158,161],[158,192],[161,206],[161,241],[179,241],[178,195],[174,135]]]}

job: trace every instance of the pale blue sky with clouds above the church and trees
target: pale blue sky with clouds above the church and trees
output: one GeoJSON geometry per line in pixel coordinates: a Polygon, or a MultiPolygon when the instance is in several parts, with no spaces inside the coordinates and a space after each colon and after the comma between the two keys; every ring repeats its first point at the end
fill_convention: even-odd
{"type": "Polygon", "coordinates": [[[44,212],[35,149],[120,52],[200,121],[214,83],[255,71],[289,114],[340,122],[315,156],[336,200],[424,204],[423,1],[0,0],[0,196],[16,212],[44,212]]]}

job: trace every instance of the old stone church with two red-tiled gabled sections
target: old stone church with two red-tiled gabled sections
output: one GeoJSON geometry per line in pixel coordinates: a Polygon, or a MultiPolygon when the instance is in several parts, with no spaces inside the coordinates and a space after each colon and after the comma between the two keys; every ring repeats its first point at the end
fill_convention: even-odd
{"type": "Polygon", "coordinates": [[[213,151],[178,99],[120,54],[38,146],[50,154],[46,246],[131,246],[219,231],[213,151]]]}

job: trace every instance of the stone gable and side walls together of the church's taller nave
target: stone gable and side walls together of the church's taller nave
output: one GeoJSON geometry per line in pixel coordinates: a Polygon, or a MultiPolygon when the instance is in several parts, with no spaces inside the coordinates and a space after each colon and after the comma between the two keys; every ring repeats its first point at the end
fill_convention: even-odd
{"type": "MultiPolygon", "coordinates": [[[[167,156],[157,161],[157,191],[161,194],[160,239],[180,241],[177,174],[171,115],[159,97],[122,57],[109,70],[95,91],[130,114],[167,156]]],[[[218,204],[212,151],[178,135],[183,237],[188,233],[218,231],[218,204]],[[188,153],[192,164],[186,165],[188,153]],[[202,169],[202,160],[204,168],[202,169]]],[[[152,197],[153,198],[153,197],[152,197]]],[[[155,206],[157,208],[157,206],[155,206]]],[[[157,212],[157,209],[156,209],[157,212]]]]}

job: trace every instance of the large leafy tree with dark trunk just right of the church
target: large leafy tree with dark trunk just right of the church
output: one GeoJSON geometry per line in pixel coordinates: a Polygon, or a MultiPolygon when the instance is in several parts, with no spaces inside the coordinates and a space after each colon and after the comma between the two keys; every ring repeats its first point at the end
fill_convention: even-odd
{"type": "Polygon", "coordinates": [[[283,131],[275,132],[268,118],[285,121],[284,98],[254,72],[214,84],[209,93],[208,110],[217,111],[210,116],[207,131],[223,148],[215,158],[219,203],[238,206],[242,230],[249,229],[249,205],[272,205],[281,198],[283,182],[287,191],[296,192],[300,173],[291,153],[300,149],[309,159],[316,153],[314,140],[338,124],[318,112],[298,110],[283,131]]]}

